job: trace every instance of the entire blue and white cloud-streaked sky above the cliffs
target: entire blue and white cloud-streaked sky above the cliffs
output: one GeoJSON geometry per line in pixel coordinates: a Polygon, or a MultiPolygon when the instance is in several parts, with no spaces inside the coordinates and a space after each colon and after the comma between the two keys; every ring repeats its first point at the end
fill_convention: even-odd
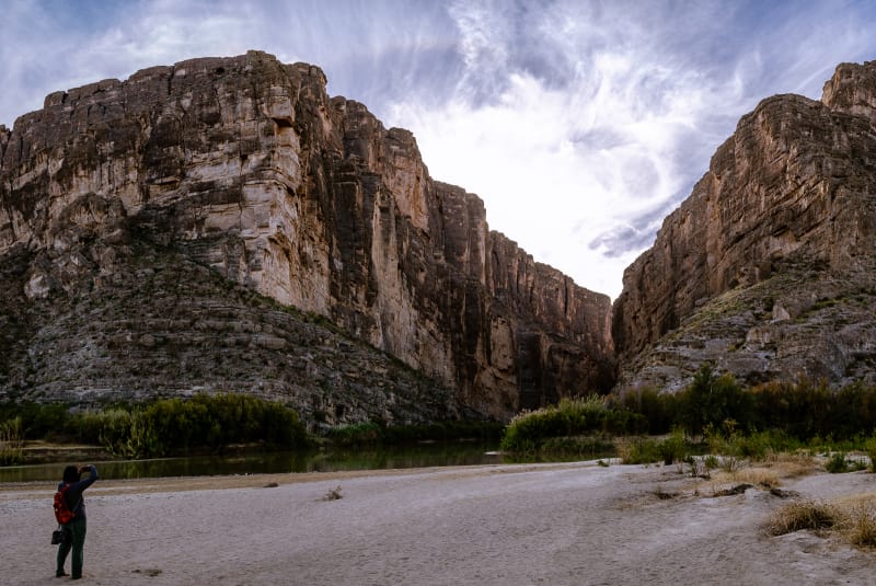
{"type": "Polygon", "coordinates": [[[416,137],[489,228],[609,295],[762,99],[876,59],[869,0],[0,0],[0,124],[93,81],[261,49],[416,137]]]}

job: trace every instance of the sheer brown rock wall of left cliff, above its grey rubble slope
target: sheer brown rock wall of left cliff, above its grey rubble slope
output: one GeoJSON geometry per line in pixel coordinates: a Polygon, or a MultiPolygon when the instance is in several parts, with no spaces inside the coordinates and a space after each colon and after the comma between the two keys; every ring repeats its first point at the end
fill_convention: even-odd
{"type": "Polygon", "coordinates": [[[316,67],[250,51],[57,92],[0,128],[0,255],[42,255],[23,277],[34,302],[100,287],[136,235],[326,317],[481,412],[611,383],[608,297],[491,232],[411,133],[330,97],[316,67]]]}

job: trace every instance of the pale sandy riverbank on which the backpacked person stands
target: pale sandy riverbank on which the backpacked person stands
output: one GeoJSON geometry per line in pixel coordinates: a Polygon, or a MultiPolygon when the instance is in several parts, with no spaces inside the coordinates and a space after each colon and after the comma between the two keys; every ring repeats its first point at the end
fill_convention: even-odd
{"type": "MultiPolygon", "coordinates": [[[[693,496],[695,482],[676,467],[592,462],[99,481],[87,492],[85,583],[874,583],[876,553],[806,531],[765,537],[760,525],[785,501],[693,496]],[[325,499],[338,484],[343,498],[325,499]]],[[[828,498],[872,492],[876,475],[784,485],[828,498]]],[[[66,582],[53,577],[53,491],[0,485],[0,583],[66,582]]]]}

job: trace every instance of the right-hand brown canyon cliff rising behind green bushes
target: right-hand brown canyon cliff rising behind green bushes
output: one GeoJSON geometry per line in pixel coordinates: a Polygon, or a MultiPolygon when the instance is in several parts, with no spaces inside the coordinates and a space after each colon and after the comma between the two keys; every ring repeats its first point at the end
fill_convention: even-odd
{"type": "Polygon", "coordinates": [[[876,61],[742,117],[614,305],[621,388],[876,381],[876,61]]]}

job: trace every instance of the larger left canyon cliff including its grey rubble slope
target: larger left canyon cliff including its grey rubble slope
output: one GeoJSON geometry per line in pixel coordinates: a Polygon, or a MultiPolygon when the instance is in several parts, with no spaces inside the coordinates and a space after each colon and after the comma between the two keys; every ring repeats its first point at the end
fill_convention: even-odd
{"type": "MultiPolygon", "coordinates": [[[[12,130],[0,128],[0,268],[11,275],[0,322],[10,344],[0,365],[4,395],[59,398],[71,386],[91,399],[130,388],[148,394],[137,384],[148,371],[165,393],[267,386],[266,395],[306,403],[330,423],[371,416],[348,409],[368,403],[350,380],[377,384],[368,360],[341,368],[326,358],[341,379],[321,386],[333,389],[328,397],[308,390],[306,376],[283,383],[229,349],[231,324],[252,321],[253,306],[255,315],[273,315],[270,300],[322,315],[437,381],[430,388],[450,399],[437,399],[443,406],[434,418],[464,409],[507,417],[612,382],[608,297],[491,232],[477,197],[429,177],[408,131],[330,99],[315,67],[251,51],[58,92],[12,130]],[[162,269],[149,273],[150,263],[162,269]],[[181,265],[189,268],[180,274],[181,265]],[[171,294],[155,276],[165,272],[211,285],[186,300],[193,284],[171,294]],[[241,306],[238,289],[222,292],[217,283],[258,295],[241,306]],[[171,311],[160,301],[168,296],[193,308],[171,311]],[[100,328],[71,319],[90,306],[107,306],[100,328]],[[211,323],[214,313],[222,323],[211,323]],[[47,342],[47,330],[64,344],[47,342]],[[193,331],[201,344],[194,354],[184,342],[193,331]],[[204,371],[191,376],[159,343],[114,354],[108,332],[117,341],[176,341],[170,345],[186,347],[204,371]],[[94,371],[101,355],[115,366],[94,371]],[[210,364],[239,370],[237,378],[210,364]]],[[[257,328],[240,344],[295,370],[307,353],[289,338],[297,328],[270,324],[286,342],[267,345],[281,347],[260,346],[257,328]]],[[[319,356],[309,360],[325,367],[319,356]]],[[[382,397],[413,405],[423,392],[382,397]]],[[[383,417],[403,418],[396,411],[383,417]]]]}

